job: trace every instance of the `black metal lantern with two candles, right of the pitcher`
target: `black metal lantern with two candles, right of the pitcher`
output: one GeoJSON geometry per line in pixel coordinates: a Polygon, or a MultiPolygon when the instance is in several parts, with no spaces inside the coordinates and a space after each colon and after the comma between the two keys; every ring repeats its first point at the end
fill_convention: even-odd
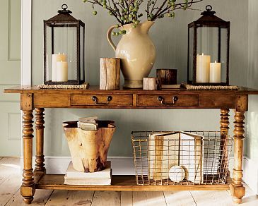
{"type": "Polygon", "coordinates": [[[218,18],[210,5],[188,25],[187,82],[229,85],[230,22],[218,18]]]}

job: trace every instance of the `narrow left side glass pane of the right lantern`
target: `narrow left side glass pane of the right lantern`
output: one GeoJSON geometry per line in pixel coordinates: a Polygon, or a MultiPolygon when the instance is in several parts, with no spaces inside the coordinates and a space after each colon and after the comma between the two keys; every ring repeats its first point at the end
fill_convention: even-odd
{"type": "Polygon", "coordinates": [[[189,28],[189,37],[188,37],[188,79],[192,81],[193,70],[194,70],[194,28],[189,28]]]}

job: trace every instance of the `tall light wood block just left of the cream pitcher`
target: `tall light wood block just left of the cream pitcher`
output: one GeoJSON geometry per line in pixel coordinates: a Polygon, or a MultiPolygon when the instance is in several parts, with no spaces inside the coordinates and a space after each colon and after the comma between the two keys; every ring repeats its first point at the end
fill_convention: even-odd
{"type": "Polygon", "coordinates": [[[100,58],[100,90],[119,90],[120,59],[100,58]]]}

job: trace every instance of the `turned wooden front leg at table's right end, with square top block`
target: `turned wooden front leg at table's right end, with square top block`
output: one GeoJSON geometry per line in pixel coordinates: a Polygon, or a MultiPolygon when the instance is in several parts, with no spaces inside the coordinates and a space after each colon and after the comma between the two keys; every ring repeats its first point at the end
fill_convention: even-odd
{"type": "Polygon", "coordinates": [[[244,144],[244,120],[245,111],[248,109],[247,95],[236,97],[235,109],[235,129],[234,129],[234,169],[232,183],[230,184],[230,193],[235,203],[242,202],[245,196],[245,187],[242,185],[242,157],[244,144]]]}

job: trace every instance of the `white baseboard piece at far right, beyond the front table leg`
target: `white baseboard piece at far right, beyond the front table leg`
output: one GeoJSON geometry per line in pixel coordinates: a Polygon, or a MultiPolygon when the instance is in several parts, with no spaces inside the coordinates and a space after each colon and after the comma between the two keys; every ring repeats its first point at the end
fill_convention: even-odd
{"type": "Polygon", "coordinates": [[[243,180],[258,195],[258,166],[257,162],[252,161],[247,157],[243,159],[243,180]]]}

